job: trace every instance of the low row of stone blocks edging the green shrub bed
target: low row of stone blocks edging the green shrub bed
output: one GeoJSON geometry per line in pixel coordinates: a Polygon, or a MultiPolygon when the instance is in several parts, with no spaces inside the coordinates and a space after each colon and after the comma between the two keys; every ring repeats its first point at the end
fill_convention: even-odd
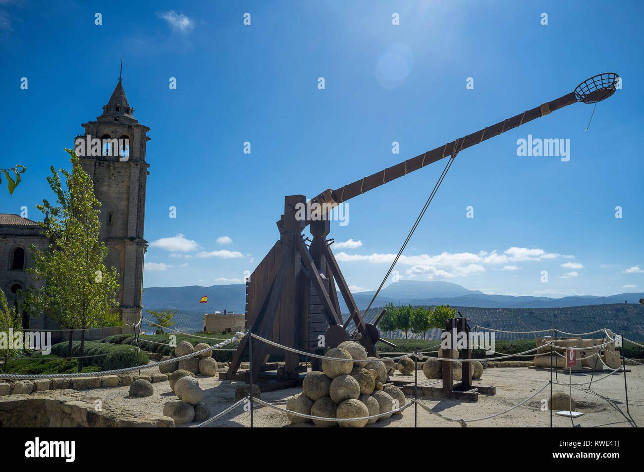
{"type": "Polygon", "coordinates": [[[0,395],[30,395],[47,390],[90,390],[91,388],[109,388],[131,385],[138,379],[148,382],[166,382],[169,374],[153,373],[151,375],[99,375],[96,377],[59,377],[53,379],[3,380],[0,375],[0,395]]]}

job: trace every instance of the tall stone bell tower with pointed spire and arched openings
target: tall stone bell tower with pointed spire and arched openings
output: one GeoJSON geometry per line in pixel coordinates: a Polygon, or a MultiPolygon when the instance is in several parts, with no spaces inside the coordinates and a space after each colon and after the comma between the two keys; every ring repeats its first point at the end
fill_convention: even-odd
{"type": "Polygon", "coordinates": [[[133,113],[118,77],[102,115],[96,121],[82,124],[84,136],[77,137],[77,140],[99,138],[102,142],[101,152],[91,153],[100,155],[88,152],[79,159],[93,180],[94,193],[101,203],[99,238],[108,248],[105,266],[118,270],[118,312],[125,323],[137,323],[141,317],[143,256],[147,247],[143,227],[149,127],[139,124],[133,113]],[[111,146],[118,146],[118,152],[111,146]]]}

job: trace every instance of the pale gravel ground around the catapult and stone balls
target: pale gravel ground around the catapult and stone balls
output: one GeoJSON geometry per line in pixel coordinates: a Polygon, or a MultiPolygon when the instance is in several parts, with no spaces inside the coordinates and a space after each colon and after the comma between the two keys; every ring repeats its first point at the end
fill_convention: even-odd
{"type": "MultiPolygon", "coordinates": [[[[623,373],[611,375],[600,382],[592,384],[591,390],[588,386],[573,388],[573,398],[577,402],[577,411],[585,413],[582,417],[574,419],[575,425],[582,428],[616,426],[630,428],[644,425],[644,366],[630,367],[632,372],[627,373],[629,386],[629,409],[630,416],[626,412],[624,395],[623,373]]],[[[595,379],[603,374],[595,375],[595,379]]],[[[413,379],[413,376],[409,376],[413,379]]],[[[558,373],[560,382],[568,382],[568,376],[558,373]]],[[[419,373],[419,378],[424,375],[419,373]]],[[[430,406],[433,411],[452,418],[475,419],[486,417],[499,411],[506,410],[518,404],[527,397],[533,395],[539,388],[550,380],[549,370],[533,368],[494,368],[484,371],[483,381],[475,381],[475,384],[493,385],[497,387],[496,395],[479,395],[477,403],[459,402],[453,400],[429,400],[420,399],[424,404],[430,406]]],[[[587,382],[591,379],[590,372],[573,373],[572,381],[587,382]]],[[[555,379],[556,381],[556,379],[555,379]]],[[[205,392],[204,403],[211,411],[211,415],[225,410],[234,403],[234,391],[240,382],[220,381],[214,377],[202,377],[199,384],[205,392]]],[[[129,398],[129,386],[117,388],[100,388],[82,392],[84,396],[92,399],[100,398],[104,404],[115,408],[128,408],[130,410],[142,411],[145,413],[160,414],[163,411],[164,403],[176,399],[170,390],[169,382],[153,384],[155,393],[146,398],[129,398]]],[[[568,386],[554,385],[554,392],[568,392],[568,386]]],[[[279,390],[277,392],[266,392],[261,394],[264,401],[276,404],[285,408],[287,401],[292,395],[301,393],[299,388],[279,390]]],[[[504,413],[492,419],[481,420],[469,423],[470,427],[548,427],[550,426],[549,410],[541,411],[540,401],[549,398],[550,388],[545,388],[534,399],[515,410],[504,413]]],[[[373,427],[413,427],[414,407],[404,410],[402,415],[393,415],[390,419],[379,420],[373,427]]],[[[193,423],[193,425],[196,423],[193,423]]],[[[290,425],[287,416],[282,411],[274,410],[265,406],[256,406],[254,411],[254,424],[260,427],[312,427],[310,423],[290,425]]],[[[447,426],[459,428],[457,422],[448,422],[435,415],[418,408],[419,426],[447,426]]],[[[191,425],[180,426],[180,428],[191,425]]],[[[231,411],[225,417],[213,422],[209,426],[220,428],[234,428],[250,426],[250,413],[243,411],[242,406],[231,411]]],[[[570,428],[571,419],[553,415],[553,426],[558,428],[570,428]]]]}

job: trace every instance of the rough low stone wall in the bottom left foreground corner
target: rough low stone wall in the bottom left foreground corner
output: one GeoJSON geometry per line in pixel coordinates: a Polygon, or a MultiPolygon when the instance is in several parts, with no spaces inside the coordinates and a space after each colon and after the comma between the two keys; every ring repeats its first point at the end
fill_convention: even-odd
{"type": "Polygon", "coordinates": [[[77,392],[39,392],[0,397],[0,428],[172,428],[175,421],[125,409],[97,410],[77,392]],[[64,394],[64,395],[61,395],[64,394]],[[75,395],[76,394],[76,395],[75,395]]]}

